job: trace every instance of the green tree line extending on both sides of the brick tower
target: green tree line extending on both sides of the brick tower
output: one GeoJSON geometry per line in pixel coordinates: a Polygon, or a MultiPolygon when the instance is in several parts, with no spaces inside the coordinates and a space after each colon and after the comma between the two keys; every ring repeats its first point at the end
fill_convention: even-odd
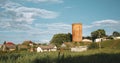
{"type": "MultiPolygon", "coordinates": [[[[95,39],[97,38],[107,37],[108,39],[112,39],[113,37],[118,37],[118,36],[120,36],[120,33],[117,31],[114,31],[112,35],[108,36],[106,35],[106,31],[104,29],[98,29],[91,32],[91,36],[83,37],[83,39],[90,39],[94,42],[95,39]]],[[[71,33],[55,34],[50,41],[51,44],[55,44],[57,46],[60,46],[63,42],[72,42],[72,34],[71,33]]]]}

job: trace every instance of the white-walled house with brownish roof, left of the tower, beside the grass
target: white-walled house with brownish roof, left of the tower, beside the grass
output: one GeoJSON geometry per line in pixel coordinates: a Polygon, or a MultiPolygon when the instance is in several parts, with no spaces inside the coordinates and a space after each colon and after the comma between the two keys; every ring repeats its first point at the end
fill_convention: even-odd
{"type": "Polygon", "coordinates": [[[43,51],[57,51],[57,47],[54,45],[41,45],[37,47],[37,52],[43,52],[43,51]]]}

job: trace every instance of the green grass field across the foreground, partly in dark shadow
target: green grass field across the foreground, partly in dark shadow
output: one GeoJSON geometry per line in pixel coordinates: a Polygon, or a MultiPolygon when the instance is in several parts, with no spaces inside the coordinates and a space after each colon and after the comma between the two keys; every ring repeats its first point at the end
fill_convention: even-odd
{"type": "Polygon", "coordinates": [[[7,52],[0,53],[0,63],[120,63],[119,49],[85,52],[7,52]]]}

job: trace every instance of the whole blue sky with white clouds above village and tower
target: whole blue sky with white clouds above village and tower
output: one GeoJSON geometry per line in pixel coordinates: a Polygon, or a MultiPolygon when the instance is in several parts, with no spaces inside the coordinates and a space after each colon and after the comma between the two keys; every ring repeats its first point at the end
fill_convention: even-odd
{"type": "Polygon", "coordinates": [[[49,43],[54,34],[72,33],[73,23],[82,23],[83,36],[120,32],[120,0],[0,0],[0,44],[49,43]]]}

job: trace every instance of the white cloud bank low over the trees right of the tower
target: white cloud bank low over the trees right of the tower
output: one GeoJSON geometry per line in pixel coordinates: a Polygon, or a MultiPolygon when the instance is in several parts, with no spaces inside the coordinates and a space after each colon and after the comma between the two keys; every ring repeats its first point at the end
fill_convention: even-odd
{"type": "Polygon", "coordinates": [[[94,21],[90,25],[83,25],[83,35],[89,35],[92,31],[97,29],[105,29],[106,32],[110,35],[113,31],[120,31],[120,21],[119,20],[100,20],[94,21]],[[89,31],[89,33],[88,33],[89,31]]]}

